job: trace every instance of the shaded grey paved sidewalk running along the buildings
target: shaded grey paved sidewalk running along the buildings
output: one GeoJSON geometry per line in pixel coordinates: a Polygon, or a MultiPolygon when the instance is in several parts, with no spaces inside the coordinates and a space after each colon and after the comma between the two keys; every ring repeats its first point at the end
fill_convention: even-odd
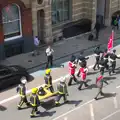
{"type": "MultiPolygon", "coordinates": [[[[120,38],[120,34],[118,34],[118,32],[119,31],[115,32],[115,39],[120,38]]],[[[87,40],[88,34],[84,34],[55,43],[53,45],[53,49],[55,51],[54,52],[55,64],[68,61],[72,53],[84,49],[93,48],[96,45],[107,43],[110,34],[111,27],[107,27],[101,30],[99,41],[88,41],[87,40]]],[[[32,71],[36,71],[37,69],[34,68],[38,67],[38,69],[40,69],[45,66],[46,63],[45,49],[46,47],[40,48],[40,55],[36,57],[33,57],[31,53],[20,54],[17,56],[10,57],[4,61],[1,61],[1,63],[5,65],[17,64],[24,66],[28,70],[32,69],[32,71]]]]}

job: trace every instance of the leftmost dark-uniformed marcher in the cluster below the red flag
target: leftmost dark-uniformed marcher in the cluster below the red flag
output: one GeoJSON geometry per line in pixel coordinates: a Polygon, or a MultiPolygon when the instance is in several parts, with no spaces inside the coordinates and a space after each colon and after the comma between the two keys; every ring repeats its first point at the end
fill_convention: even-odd
{"type": "Polygon", "coordinates": [[[96,69],[96,66],[97,66],[97,68],[99,69],[100,54],[103,53],[103,52],[100,50],[100,46],[98,46],[98,47],[95,48],[94,53],[95,53],[96,62],[95,62],[95,65],[94,65],[93,69],[95,70],[95,69],[96,69]]]}

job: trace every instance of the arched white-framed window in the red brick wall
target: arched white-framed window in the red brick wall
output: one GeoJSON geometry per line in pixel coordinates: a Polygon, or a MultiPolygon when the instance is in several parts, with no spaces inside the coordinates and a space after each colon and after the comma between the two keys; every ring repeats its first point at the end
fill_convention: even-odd
{"type": "Polygon", "coordinates": [[[10,4],[2,9],[2,22],[5,41],[22,36],[20,8],[16,4],[10,4]]]}

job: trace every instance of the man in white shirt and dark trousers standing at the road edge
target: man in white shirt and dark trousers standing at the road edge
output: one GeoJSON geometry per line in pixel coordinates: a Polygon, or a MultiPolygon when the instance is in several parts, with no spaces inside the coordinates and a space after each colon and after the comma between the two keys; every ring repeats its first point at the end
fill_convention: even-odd
{"type": "Polygon", "coordinates": [[[47,55],[46,68],[48,68],[49,64],[51,67],[53,66],[53,52],[54,50],[50,46],[48,46],[48,48],[46,49],[46,55],[47,55]]]}

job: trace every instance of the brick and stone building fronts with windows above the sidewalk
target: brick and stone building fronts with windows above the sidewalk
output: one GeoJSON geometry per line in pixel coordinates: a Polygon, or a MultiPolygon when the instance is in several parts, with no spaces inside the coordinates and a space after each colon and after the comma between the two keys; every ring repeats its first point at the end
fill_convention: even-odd
{"type": "Polygon", "coordinates": [[[42,43],[59,39],[63,26],[72,21],[89,19],[94,27],[100,16],[102,24],[109,26],[112,14],[119,10],[120,0],[0,0],[0,59],[20,53],[19,49],[32,51],[33,36],[42,43]],[[9,9],[16,14],[13,21],[9,9]]]}

